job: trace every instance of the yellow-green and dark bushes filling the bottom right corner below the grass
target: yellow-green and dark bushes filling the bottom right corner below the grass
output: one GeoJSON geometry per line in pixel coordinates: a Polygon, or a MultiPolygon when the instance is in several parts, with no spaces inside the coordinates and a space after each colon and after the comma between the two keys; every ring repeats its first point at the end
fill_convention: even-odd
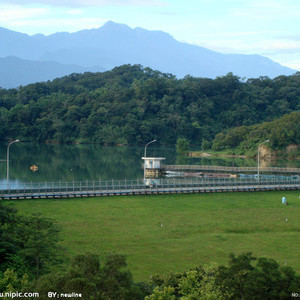
{"type": "Polygon", "coordinates": [[[251,253],[230,255],[228,266],[209,264],[183,273],[152,278],[159,299],[290,299],[300,289],[300,276],[291,267],[251,253]],[[255,263],[254,263],[255,262],[255,263]]]}

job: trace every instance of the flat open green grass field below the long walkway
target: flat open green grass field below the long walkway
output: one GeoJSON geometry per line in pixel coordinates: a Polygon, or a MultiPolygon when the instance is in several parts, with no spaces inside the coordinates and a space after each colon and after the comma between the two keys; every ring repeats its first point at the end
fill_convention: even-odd
{"type": "Polygon", "coordinates": [[[300,192],[5,201],[62,226],[69,256],[127,255],[136,281],[251,251],[300,272],[300,192]],[[281,204],[285,196],[289,205],[281,204]]]}

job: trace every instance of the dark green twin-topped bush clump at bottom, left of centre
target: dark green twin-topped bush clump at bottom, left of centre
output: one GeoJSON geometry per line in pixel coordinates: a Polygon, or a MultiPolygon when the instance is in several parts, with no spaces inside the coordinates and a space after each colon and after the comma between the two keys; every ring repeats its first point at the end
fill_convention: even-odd
{"type": "Polygon", "coordinates": [[[123,255],[108,255],[103,266],[93,254],[77,255],[67,271],[54,272],[33,283],[41,299],[48,299],[49,291],[60,294],[81,294],[81,299],[144,299],[146,284],[135,284],[123,255]]]}

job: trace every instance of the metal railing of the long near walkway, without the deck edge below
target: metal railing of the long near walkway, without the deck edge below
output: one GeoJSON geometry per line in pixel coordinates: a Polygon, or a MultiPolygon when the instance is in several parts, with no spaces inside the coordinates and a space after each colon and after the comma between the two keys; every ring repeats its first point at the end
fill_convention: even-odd
{"type": "Polygon", "coordinates": [[[31,195],[54,193],[115,192],[147,189],[184,189],[198,187],[253,187],[253,186],[295,186],[300,188],[299,176],[277,176],[260,178],[162,178],[135,180],[94,180],[71,182],[30,182],[0,184],[0,195],[31,195]]]}

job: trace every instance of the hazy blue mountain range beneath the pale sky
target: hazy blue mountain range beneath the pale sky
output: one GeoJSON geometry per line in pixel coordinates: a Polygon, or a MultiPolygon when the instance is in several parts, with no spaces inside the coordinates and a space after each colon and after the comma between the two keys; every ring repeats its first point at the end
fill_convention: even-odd
{"type": "Polygon", "coordinates": [[[182,43],[168,33],[109,21],[98,29],[49,36],[0,28],[0,87],[47,81],[70,73],[141,64],[181,78],[291,75],[295,70],[260,55],[222,54],[182,43]]]}

